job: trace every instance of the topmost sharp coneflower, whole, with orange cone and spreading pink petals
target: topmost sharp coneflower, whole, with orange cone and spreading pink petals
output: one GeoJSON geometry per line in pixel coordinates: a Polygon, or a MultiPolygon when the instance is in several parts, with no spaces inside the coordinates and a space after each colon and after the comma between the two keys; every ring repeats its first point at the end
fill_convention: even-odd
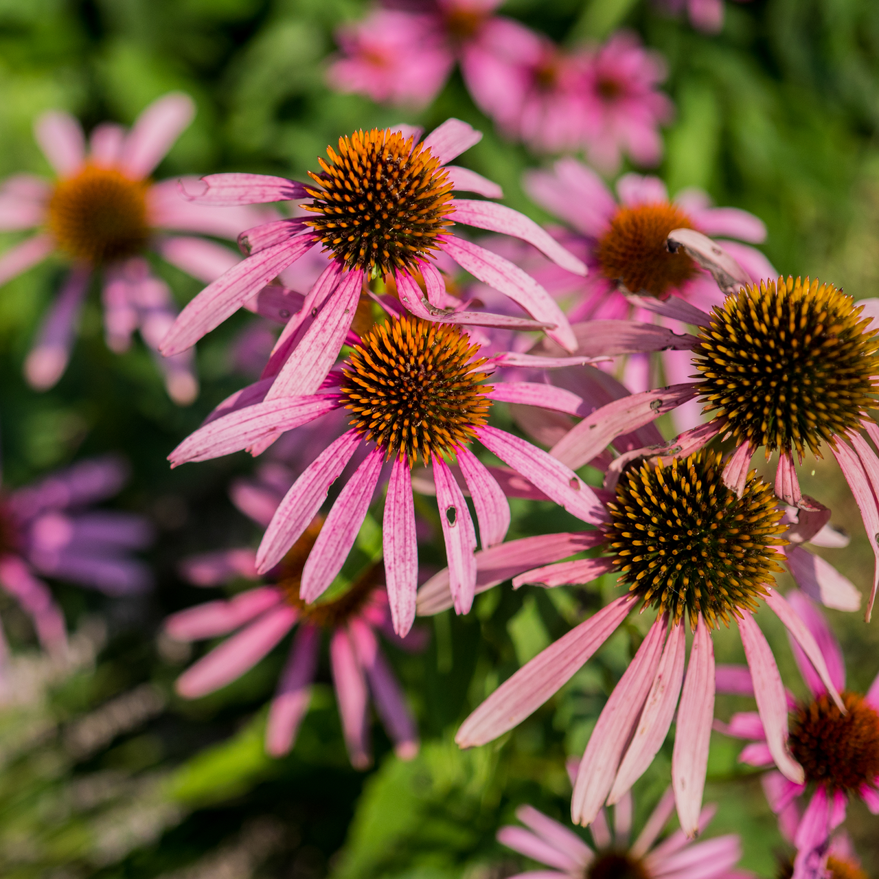
{"type": "Polygon", "coordinates": [[[447,163],[482,134],[447,120],[423,142],[418,134],[374,128],[327,148],[329,162],[312,184],[255,174],[203,178],[203,204],[305,200],[308,214],[250,229],[243,243],[251,256],[191,301],[163,339],[173,355],[193,345],[256,294],[265,283],[323,244],[331,263],[309,289],[302,309],[287,323],[266,375],[277,375],[269,398],[313,394],[330,371],[351,327],[365,281],[396,283],[413,314],[449,323],[547,328],[566,349],[575,340],[556,301],[517,265],[453,233],[455,223],[517,236],[571,272],[585,266],[523,214],[490,201],[454,199],[456,187],[497,197],[499,188],[473,171],[447,163]],[[448,314],[445,282],[434,253],[445,253],[478,280],[500,290],[534,321],[459,311],[448,314]],[[421,287],[420,285],[424,285],[421,287]]]}

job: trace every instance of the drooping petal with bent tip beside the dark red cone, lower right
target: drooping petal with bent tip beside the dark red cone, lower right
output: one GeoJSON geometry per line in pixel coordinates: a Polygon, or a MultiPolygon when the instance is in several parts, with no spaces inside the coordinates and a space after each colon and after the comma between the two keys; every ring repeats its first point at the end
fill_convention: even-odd
{"type": "Polygon", "coordinates": [[[753,614],[745,612],[736,622],[742,636],[742,646],[745,647],[748,668],[751,669],[760,720],[766,730],[766,745],[781,773],[790,781],[802,784],[803,766],[796,762],[788,750],[788,705],[772,649],[766,643],[766,637],[753,614]]]}

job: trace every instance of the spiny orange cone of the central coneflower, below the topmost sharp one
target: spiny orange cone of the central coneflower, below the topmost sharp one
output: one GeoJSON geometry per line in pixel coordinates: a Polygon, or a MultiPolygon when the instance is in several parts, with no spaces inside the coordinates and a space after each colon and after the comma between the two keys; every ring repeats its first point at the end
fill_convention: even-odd
{"type": "Polygon", "coordinates": [[[402,317],[376,324],[344,368],[343,402],[352,426],[388,457],[425,464],[432,454],[454,454],[485,424],[491,401],[488,375],[475,360],[479,345],[447,323],[402,317]]]}

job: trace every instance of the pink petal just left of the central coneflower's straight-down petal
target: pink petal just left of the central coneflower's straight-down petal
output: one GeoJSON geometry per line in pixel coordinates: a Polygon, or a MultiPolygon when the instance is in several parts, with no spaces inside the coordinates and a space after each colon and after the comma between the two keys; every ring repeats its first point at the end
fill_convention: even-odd
{"type": "Polygon", "coordinates": [[[302,569],[299,597],[311,604],[336,578],[351,552],[381,473],[383,451],[374,448],[339,492],[302,569]]]}

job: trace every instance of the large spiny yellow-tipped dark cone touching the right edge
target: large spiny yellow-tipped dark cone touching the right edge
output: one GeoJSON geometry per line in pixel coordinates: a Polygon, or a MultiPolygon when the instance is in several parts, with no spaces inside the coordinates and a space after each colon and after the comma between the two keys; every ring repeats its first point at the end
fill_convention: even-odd
{"type": "Polygon", "coordinates": [[[820,456],[856,431],[877,387],[879,339],[832,284],[760,281],[728,296],[694,348],[704,411],[737,443],[820,456]]]}

